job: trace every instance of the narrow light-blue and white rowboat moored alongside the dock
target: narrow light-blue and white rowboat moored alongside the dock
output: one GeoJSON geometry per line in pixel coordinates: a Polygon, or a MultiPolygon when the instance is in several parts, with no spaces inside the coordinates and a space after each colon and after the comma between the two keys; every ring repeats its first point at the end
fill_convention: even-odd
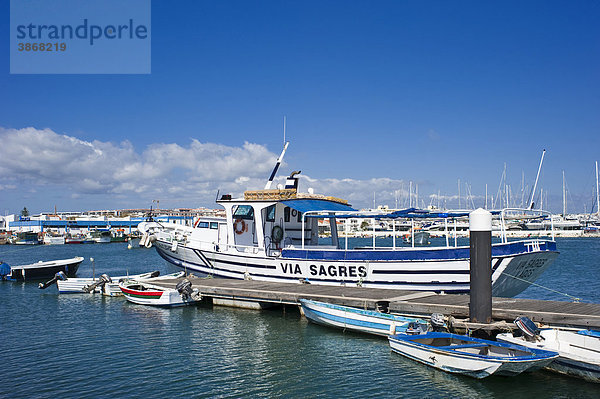
{"type": "Polygon", "coordinates": [[[404,317],[375,310],[301,299],[306,318],[314,323],[382,336],[400,333],[426,332],[429,325],[424,319],[404,317]]]}

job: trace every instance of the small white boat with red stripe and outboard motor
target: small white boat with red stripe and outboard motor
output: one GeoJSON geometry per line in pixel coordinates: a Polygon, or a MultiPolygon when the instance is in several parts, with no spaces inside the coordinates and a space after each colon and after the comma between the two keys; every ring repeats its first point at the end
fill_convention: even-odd
{"type": "Polygon", "coordinates": [[[194,305],[202,300],[197,289],[192,289],[192,283],[183,279],[175,288],[160,287],[142,280],[126,280],[119,283],[119,288],[125,299],[138,305],[151,306],[185,306],[194,305]]]}

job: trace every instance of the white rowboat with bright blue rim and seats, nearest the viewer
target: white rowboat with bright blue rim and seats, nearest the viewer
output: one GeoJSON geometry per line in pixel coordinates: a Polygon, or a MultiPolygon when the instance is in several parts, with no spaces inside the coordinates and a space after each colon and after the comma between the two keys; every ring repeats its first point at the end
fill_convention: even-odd
{"type": "Polygon", "coordinates": [[[392,351],[449,373],[512,376],[548,365],[558,353],[464,335],[429,332],[388,337],[392,351]]]}

